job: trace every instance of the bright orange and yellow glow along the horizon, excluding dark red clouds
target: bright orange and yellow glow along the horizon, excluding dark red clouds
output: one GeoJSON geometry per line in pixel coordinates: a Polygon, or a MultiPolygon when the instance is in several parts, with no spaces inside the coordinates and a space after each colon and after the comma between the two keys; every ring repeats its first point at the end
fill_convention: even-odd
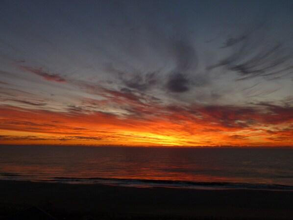
{"type": "Polygon", "coordinates": [[[6,106],[0,109],[1,144],[293,146],[293,131],[287,128],[292,120],[271,122],[264,127],[267,116],[251,114],[260,122],[242,127],[224,126],[211,114],[191,120],[187,120],[192,117],[187,113],[171,114],[123,118],[99,112],[73,114],[6,106]],[[273,133],[273,129],[278,132],[273,133]]]}

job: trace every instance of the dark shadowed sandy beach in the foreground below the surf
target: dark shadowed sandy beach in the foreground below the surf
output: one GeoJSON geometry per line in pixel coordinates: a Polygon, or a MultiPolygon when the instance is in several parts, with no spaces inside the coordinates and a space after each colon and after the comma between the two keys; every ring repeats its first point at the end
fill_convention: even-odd
{"type": "Polygon", "coordinates": [[[293,219],[293,192],[0,181],[0,218],[38,206],[58,219],[293,219]]]}

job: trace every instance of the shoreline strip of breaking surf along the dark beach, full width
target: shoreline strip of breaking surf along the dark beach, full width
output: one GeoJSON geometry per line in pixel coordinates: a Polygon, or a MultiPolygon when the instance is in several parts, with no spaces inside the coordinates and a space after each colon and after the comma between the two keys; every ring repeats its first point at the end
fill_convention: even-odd
{"type": "Polygon", "coordinates": [[[135,178],[103,178],[103,177],[52,177],[51,179],[25,178],[26,176],[14,173],[0,173],[0,180],[30,181],[43,183],[62,183],[78,185],[110,185],[136,188],[176,188],[197,190],[268,190],[268,191],[293,191],[293,185],[280,183],[249,183],[249,182],[202,182],[188,180],[168,179],[135,179],[135,178]],[[14,178],[3,178],[9,176],[14,178]],[[16,178],[15,178],[16,177],[16,178]],[[20,177],[20,178],[19,178],[20,177]]]}

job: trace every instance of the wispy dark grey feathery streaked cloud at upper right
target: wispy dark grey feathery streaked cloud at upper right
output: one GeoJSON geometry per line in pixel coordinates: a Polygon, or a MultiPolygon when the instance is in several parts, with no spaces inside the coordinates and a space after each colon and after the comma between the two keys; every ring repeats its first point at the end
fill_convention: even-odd
{"type": "Polygon", "coordinates": [[[271,79],[293,74],[293,51],[285,43],[250,36],[231,44],[230,48],[231,55],[207,69],[224,67],[238,73],[241,76],[238,80],[257,76],[271,79]]]}

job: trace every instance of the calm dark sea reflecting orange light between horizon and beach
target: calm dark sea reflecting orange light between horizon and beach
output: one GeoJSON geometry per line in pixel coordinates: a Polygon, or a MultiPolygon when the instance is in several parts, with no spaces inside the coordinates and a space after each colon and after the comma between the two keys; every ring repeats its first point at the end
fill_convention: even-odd
{"type": "Polygon", "coordinates": [[[0,179],[293,190],[293,150],[0,146],[0,179]]]}

